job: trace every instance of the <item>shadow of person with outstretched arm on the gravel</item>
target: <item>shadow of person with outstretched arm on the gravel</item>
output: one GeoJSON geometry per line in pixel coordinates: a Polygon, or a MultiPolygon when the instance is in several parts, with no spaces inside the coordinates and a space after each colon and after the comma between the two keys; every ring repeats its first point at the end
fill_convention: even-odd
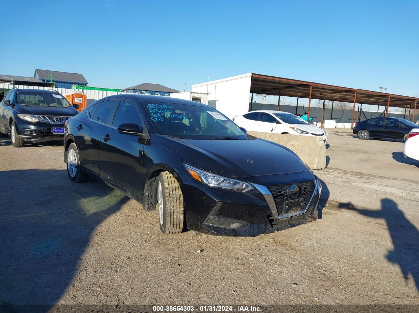
{"type": "Polygon", "coordinates": [[[357,209],[352,203],[340,203],[339,208],[357,211],[374,218],[383,219],[387,223],[394,249],[386,255],[388,261],[398,264],[406,283],[412,275],[416,289],[419,291],[419,231],[391,199],[381,199],[381,210],[357,209]]]}

